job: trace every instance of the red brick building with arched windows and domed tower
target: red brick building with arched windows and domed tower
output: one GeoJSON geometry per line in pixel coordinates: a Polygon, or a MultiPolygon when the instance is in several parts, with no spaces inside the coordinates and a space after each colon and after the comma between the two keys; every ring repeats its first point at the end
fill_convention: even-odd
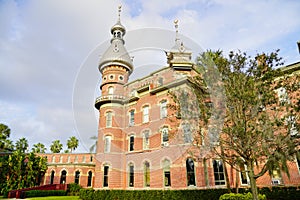
{"type": "MultiPolygon", "coordinates": [[[[166,54],[166,66],[128,82],[134,66],[125,48],[125,33],[119,13],[111,28],[111,44],[99,63],[102,81],[101,96],[95,102],[100,116],[96,154],[45,154],[48,170],[44,184],[77,182],[95,189],[226,187],[220,159],[194,156],[201,155],[198,147],[203,142],[195,133],[205,131],[198,130],[199,117],[187,116],[184,107],[196,107],[197,102],[186,105],[183,98],[180,117],[169,106],[170,91],[185,91],[189,100],[193,98],[188,83],[197,72],[191,50],[176,36],[166,54]]],[[[300,62],[283,68],[291,75],[299,69],[300,62]]],[[[231,187],[237,180],[240,187],[249,187],[247,174],[226,168],[231,187]]],[[[299,185],[300,161],[295,157],[289,168],[290,179],[280,172],[265,174],[257,185],[299,185]]]]}

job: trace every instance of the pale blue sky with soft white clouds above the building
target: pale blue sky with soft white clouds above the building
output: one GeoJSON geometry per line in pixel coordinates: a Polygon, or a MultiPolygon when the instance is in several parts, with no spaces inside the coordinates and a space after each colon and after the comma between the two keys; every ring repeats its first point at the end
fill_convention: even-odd
{"type": "Polygon", "coordinates": [[[88,138],[97,135],[97,64],[120,4],[128,32],[174,31],[178,19],[180,33],[203,49],[280,49],[286,64],[300,60],[297,0],[0,0],[0,123],[12,140],[49,149],[74,135],[81,141],[76,152],[88,151],[88,138]]]}

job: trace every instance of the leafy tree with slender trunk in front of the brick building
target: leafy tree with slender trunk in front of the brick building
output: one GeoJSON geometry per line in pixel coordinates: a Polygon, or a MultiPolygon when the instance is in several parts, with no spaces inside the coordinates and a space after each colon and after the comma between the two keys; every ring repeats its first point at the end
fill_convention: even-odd
{"type": "MultiPolygon", "coordinates": [[[[298,154],[299,139],[294,133],[300,103],[299,98],[289,101],[288,95],[299,93],[299,76],[287,77],[275,69],[283,65],[278,51],[255,58],[241,52],[230,52],[226,58],[221,51],[208,51],[197,61],[208,88],[217,90],[209,109],[201,108],[207,113],[204,121],[224,119],[221,128],[208,128],[207,144],[237,170],[247,166],[253,198],[258,199],[256,179],[273,170],[289,175],[287,162],[298,154]],[[287,92],[286,101],[278,99],[280,88],[287,92]]],[[[203,88],[197,81],[192,83],[196,90],[203,88]]]]}

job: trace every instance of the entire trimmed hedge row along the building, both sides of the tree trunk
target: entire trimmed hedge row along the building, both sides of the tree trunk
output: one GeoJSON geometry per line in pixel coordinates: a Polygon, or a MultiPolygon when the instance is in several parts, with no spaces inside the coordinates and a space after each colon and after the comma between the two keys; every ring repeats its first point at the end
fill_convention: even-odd
{"type": "MultiPolygon", "coordinates": [[[[234,189],[232,189],[234,192],[234,189]]],[[[272,187],[260,188],[261,200],[295,200],[300,199],[300,188],[297,187],[272,187]]],[[[79,197],[82,200],[218,200],[223,194],[223,200],[246,200],[251,196],[250,189],[240,188],[239,194],[228,194],[227,189],[207,189],[207,190],[93,190],[81,189],[79,197]],[[246,195],[243,195],[246,194],[246,195]],[[229,195],[229,197],[228,197],[229,195]]]]}

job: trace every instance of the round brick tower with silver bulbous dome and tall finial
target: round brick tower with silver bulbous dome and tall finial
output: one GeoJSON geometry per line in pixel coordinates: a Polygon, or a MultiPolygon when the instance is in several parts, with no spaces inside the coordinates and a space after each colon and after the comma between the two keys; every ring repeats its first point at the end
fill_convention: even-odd
{"type": "Polygon", "coordinates": [[[124,84],[133,71],[132,60],[124,46],[126,29],[120,20],[121,6],[118,9],[117,23],[111,28],[110,46],[102,55],[99,71],[102,75],[101,96],[96,99],[99,110],[98,146],[96,158],[96,188],[120,188],[120,173],[123,127],[124,127],[124,84]],[[103,178],[104,177],[104,178],[103,178]]]}

